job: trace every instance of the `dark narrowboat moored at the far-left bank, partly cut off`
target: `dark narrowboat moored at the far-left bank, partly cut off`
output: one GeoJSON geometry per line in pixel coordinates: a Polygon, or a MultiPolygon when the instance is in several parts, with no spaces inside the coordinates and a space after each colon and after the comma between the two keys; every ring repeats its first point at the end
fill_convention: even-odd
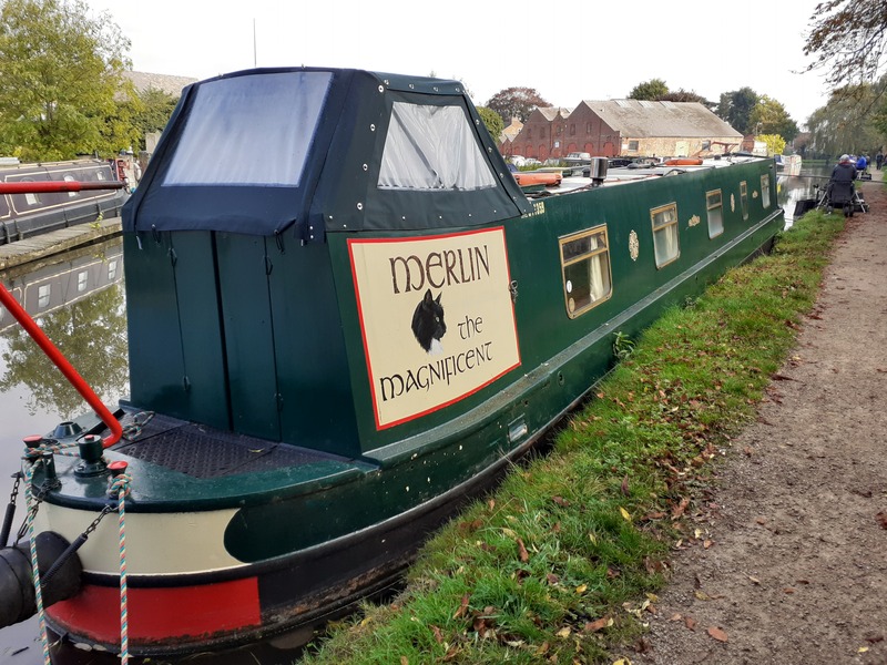
{"type": "Polygon", "coordinates": [[[57,181],[104,185],[116,183],[119,178],[114,165],[102,160],[3,166],[0,185],[10,186],[0,191],[0,245],[57,228],[119,217],[129,196],[123,186],[115,191],[108,187],[28,190],[28,185],[57,181]]]}

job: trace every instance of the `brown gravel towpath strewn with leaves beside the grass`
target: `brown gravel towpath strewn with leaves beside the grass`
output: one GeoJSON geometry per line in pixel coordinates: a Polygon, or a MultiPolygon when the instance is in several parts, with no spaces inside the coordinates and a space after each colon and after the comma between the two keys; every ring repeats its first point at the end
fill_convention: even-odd
{"type": "Polygon", "coordinates": [[[875,172],[633,663],[887,664],[887,194],[875,172]],[[705,542],[707,543],[707,549],[705,542]]]}

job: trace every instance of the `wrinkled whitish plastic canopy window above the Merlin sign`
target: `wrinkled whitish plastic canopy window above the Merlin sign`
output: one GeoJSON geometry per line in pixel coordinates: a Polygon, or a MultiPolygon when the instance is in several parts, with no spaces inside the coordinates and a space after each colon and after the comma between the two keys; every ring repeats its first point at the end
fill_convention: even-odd
{"type": "Polygon", "coordinates": [[[497,180],[461,106],[395,102],[378,186],[384,190],[488,190],[497,180]]]}

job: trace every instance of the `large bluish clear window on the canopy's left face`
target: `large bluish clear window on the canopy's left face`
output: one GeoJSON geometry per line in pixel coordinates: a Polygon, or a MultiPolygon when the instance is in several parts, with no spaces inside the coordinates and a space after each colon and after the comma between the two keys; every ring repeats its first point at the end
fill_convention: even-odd
{"type": "Polygon", "coordinates": [[[277,72],[203,83],[163,186],[298,186],[330,80],[277,72]]]}

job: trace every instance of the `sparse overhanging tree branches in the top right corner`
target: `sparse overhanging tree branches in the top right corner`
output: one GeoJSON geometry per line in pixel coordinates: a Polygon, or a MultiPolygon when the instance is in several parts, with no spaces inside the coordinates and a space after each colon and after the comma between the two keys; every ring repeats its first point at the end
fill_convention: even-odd
{"type": "Polygon", "coordinates": [[[804,54],[816,59],[806,71],[830,68],[833,91],[874,83],[887,54],[887,6],[884,0],[826,0],[810,17],[804,54]]]}

